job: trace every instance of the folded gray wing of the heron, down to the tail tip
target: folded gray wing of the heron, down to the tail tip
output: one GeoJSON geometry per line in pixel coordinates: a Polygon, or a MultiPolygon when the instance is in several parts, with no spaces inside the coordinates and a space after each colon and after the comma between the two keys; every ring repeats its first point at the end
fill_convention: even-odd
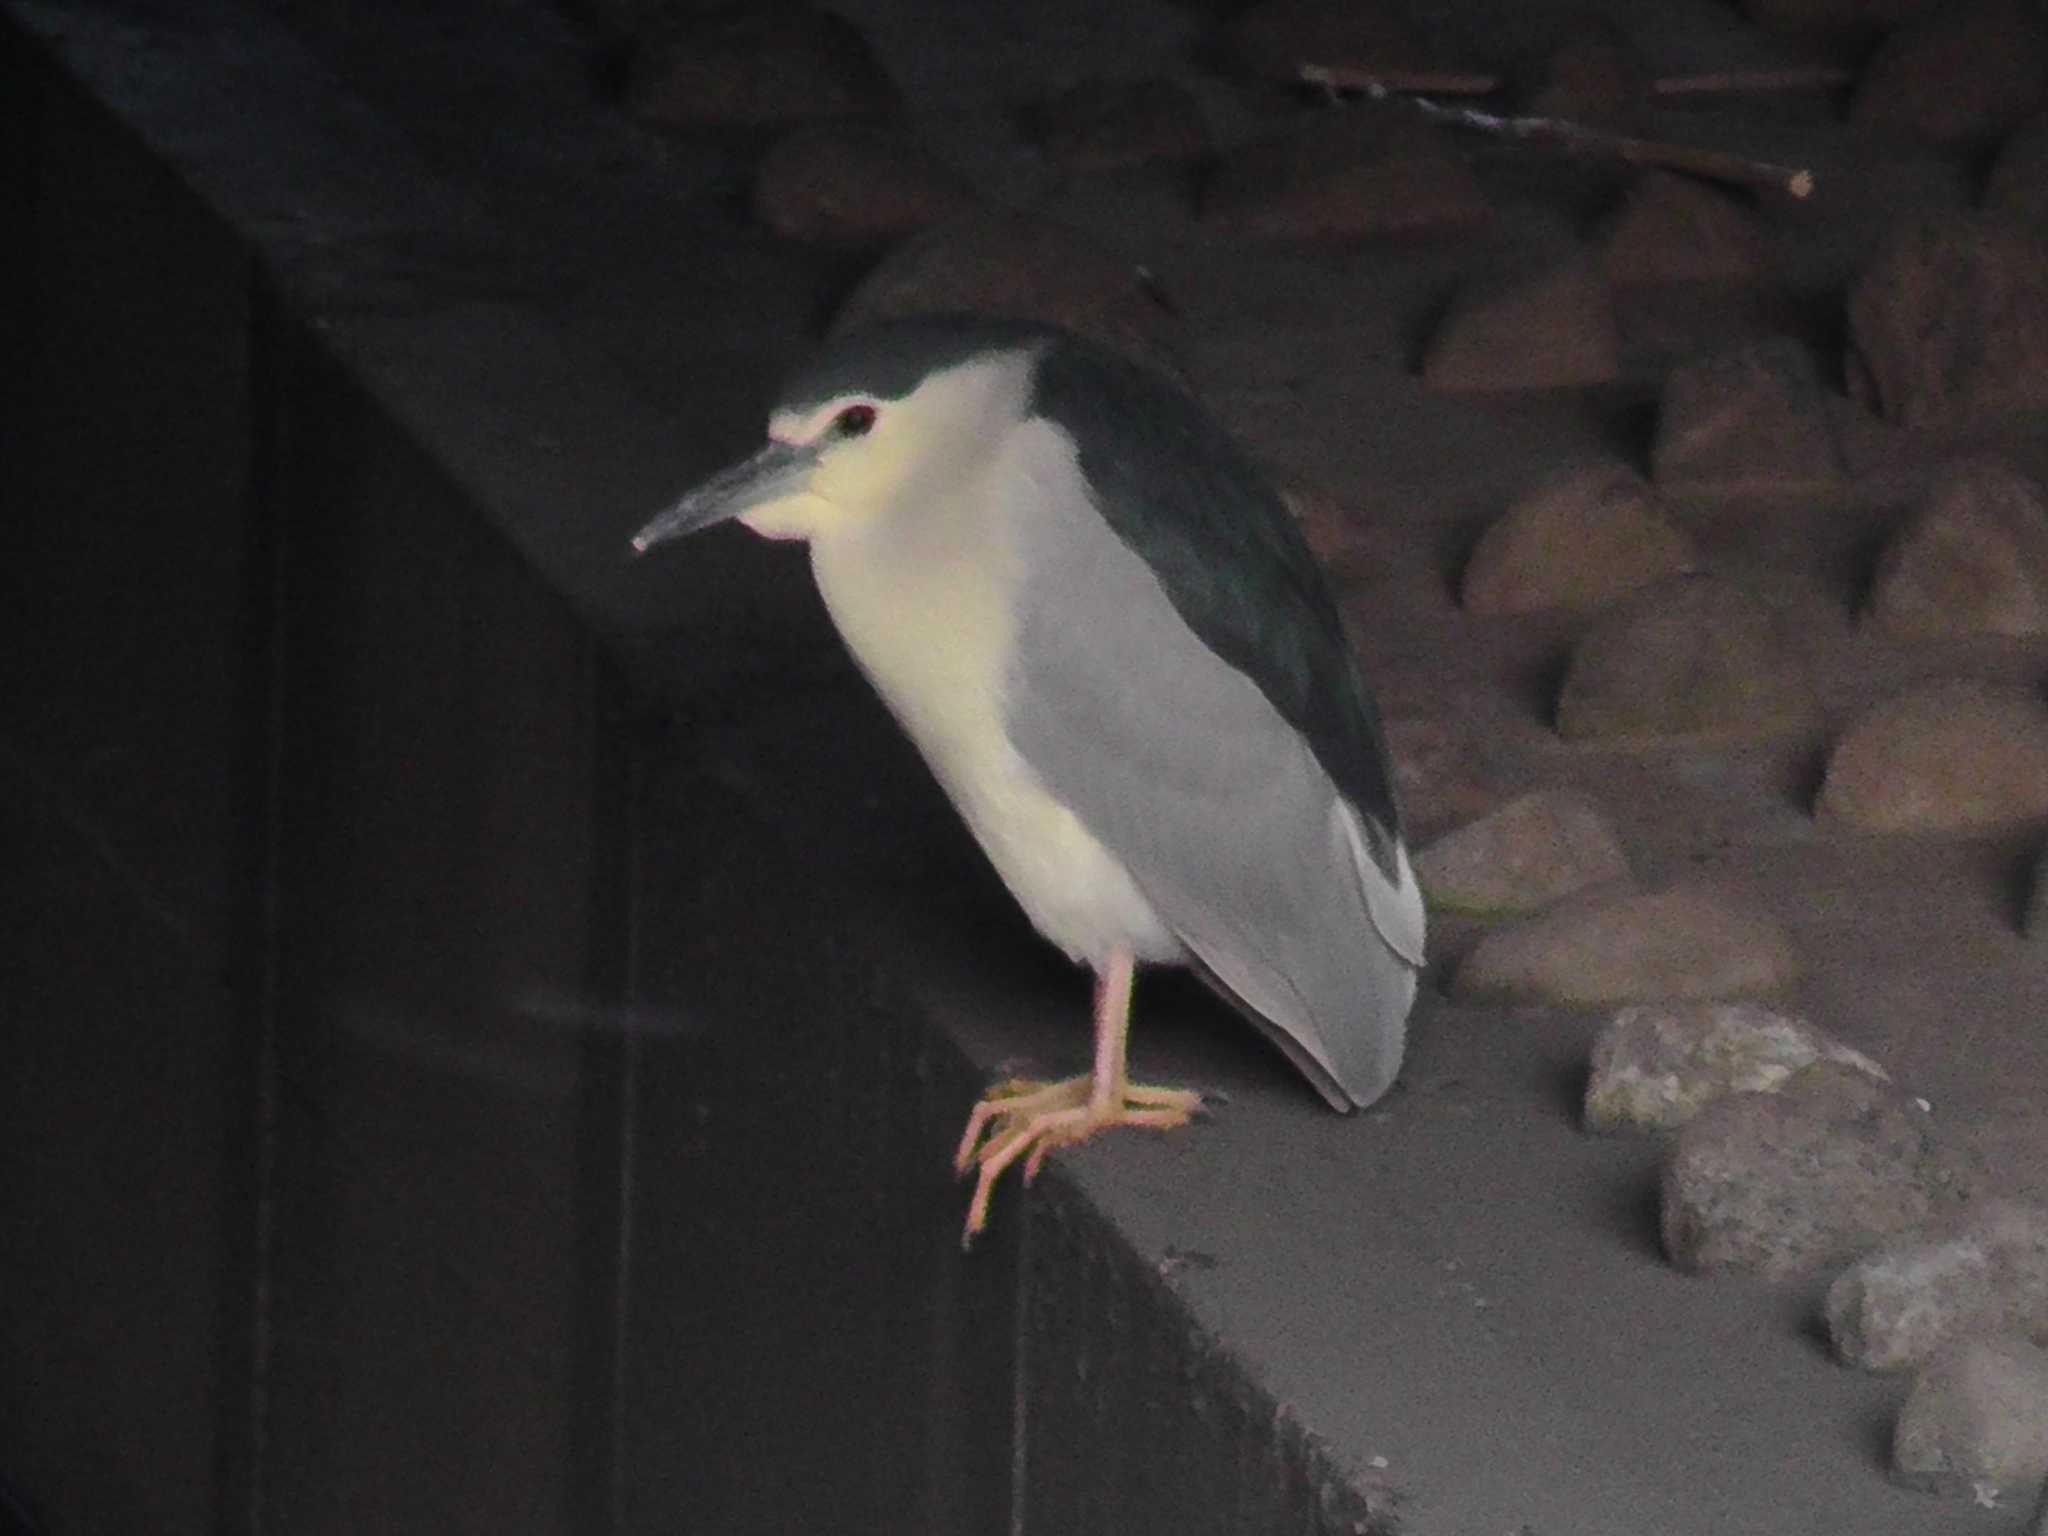
{"type": "Polygon", "coordinates": [[[1085,506],[1026,532],[1006,719],[1204,977],[1337,1108],[1401,1067],[1421,903],[1245,674],[1085,506]]]}

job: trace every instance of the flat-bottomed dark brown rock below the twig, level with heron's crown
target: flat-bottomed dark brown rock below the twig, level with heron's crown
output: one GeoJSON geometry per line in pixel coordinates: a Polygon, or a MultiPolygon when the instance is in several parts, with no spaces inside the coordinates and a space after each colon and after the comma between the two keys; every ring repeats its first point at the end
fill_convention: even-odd
{"type": "Polygon", "coordinates": [[[1554,389],[1616,377],[1612,295],[1583,260],[1468,287],[1421,365],[1430,389],[1554,389]]]}

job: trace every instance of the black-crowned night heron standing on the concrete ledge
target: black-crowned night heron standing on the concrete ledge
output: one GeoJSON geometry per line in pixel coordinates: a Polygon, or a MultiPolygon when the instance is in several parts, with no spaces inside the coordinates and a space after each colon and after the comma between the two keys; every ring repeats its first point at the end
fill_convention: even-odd
{"type": "Polygon", "coordinates": [[[639,551],[739,518],[807,539],[840,635],[1032,924],[1096,973],[1085,1077],[997,1083],[967,1235],[1024,1159],[1176,1126],[1124,1071],[1139,961],[1194,967],[1339,1110],[1401,1069],[1423,909],[1337,608],[1272,487],[1194,401],[1057,330],[831,342],[768,446],[639,551]]]}

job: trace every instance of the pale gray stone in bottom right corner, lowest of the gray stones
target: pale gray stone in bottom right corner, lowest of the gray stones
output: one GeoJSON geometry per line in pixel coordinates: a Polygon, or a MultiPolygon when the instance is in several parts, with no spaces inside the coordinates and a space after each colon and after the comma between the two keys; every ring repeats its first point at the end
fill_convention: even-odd
{"type": "Polygon", "coordinates": [[[1927,1362],[1892,1427],[1892,1477],[1980,1501],[2048,1477],[2048,1350],[1972,1337],[1927,1362]]]}

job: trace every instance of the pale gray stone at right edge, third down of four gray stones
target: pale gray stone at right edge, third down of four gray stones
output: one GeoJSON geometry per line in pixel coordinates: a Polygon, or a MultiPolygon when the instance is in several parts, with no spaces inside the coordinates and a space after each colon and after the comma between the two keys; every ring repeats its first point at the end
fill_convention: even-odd
{"type": "Polygon", "coordinates": [[[1978,1200],[1952,1223],[1866,1253],[1827,1290],[1835,1358],[1911,1370],[1966,1333],[2048,1343],[2048,1208],[1978,1200]]]}

